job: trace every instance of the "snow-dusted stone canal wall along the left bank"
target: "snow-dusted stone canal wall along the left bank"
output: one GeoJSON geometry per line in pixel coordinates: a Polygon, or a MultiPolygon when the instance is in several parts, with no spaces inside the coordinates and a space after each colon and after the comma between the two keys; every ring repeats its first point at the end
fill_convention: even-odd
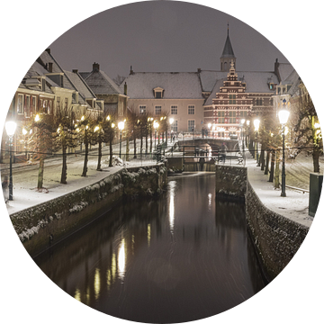
{"type": "Polygon", "coordinates": [[[121,202],[162,193],[164,164],[124,168],[103,180],[9,216],[14,231],[31,257],[66,238],[121,202]]]}

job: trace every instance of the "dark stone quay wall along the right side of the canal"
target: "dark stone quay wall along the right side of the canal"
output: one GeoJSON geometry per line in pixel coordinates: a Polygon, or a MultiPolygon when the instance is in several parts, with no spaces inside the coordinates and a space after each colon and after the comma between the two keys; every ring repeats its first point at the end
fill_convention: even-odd
{"type": "Polygon", "coordinates": [[[268,282],[292,261],[310,228],[268,209],[247,178],[247,168],[216,165],[216,197],[245,201],[247,230],[268,282]]]}

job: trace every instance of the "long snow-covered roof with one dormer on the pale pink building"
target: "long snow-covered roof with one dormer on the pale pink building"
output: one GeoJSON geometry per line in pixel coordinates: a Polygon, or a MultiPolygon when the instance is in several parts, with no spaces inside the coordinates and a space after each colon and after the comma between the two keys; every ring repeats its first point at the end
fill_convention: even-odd
{"type": "Polygon", "coordinates": [[[164,89],[164,99],[202,99],[202,86],[197,72],[136,72],[127,83],[131,99],[154,99],[153,89],[164,89]]]}

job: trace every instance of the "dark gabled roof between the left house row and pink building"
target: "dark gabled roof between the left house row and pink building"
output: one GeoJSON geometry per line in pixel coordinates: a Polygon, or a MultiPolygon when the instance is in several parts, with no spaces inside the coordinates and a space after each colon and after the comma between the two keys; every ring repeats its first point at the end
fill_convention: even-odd
{"type": "Polygon", "coordinates": [[[92,72],[80,72],[94,94],[122,94],[121,89],[103,71],[94,69],[92,72]]]}

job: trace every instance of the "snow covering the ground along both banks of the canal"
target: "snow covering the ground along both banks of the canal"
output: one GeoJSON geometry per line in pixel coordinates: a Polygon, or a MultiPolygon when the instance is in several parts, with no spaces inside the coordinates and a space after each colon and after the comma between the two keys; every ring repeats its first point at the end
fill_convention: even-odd
{"type": "MultiPolygon", "coordinates": [[[[311,227],[313,218],[308,215],[309,193],[302,193],[286,188],[287,197],[281,197],[281,189],[274,189],[274,184],[267,181],[268,175],[264,175],[260,167],[257,167],[257,162],[248,152],[246,152],[246,157],[248,179],[266,207],[292,220],[298,221],[303,225],[311,227]]],[[[81,177],[83,159],[84,157],[81,155],[78,157],[68,157],[67,184],[59,184],[61,161],[58,158],[47,160],[45,163],[43,184],[46,190],[42,193],[37,192],[35,189],[38,175],[37,167],[31,169],[31,171],[28,170],[28,167],[31,168],[31,166],[17,167],[17,170],[14,170],[14,172],[18,172],[19,169],[21,169],[21,171],[20,173],[18,172],[18,174],[14,174],[14,201],[9,202],[6,206],[8,214],[21,211],[41,202],[49,201],[50,199],[73,192],[86,185],[94,184],[104,177],[121,170],[123,167],[118,157],[114,159],[116,165],[112,167],[109,167],[108,160],[103,158],[103,171],[96,171],[96,157],[89,157],[87,176],[81,177]]],[[[323,165],[323,161],[324,158],[321,157],[321,165],[323,165]]],[[[136,164],[138,164],[138,166],[153,165],[156,164],[156,161],[147,162],[138,160],[134,162],[133,160],[130,166],[137,166],[136,164]]],[[[288,158],[286,160],[286,184],[302,189],[309,189],[310,172],[312,172],[312,170],[312,157],[308,157],[306,152],[302,152],[295,159],[288,158]]]]}

